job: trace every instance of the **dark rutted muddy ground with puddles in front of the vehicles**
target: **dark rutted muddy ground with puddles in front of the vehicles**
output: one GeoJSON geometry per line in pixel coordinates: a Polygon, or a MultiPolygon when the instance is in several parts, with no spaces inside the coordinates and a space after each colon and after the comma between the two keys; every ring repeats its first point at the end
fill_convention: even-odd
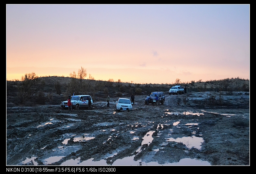
{"type": "Polygon", "coordinates": [[[7,165],[249,165],[249,92],[135,96],[130,112],[111,98],[93,110],[7,107],[7,165]],[[183,161],[183,163],[181,163],[183,161]]]}

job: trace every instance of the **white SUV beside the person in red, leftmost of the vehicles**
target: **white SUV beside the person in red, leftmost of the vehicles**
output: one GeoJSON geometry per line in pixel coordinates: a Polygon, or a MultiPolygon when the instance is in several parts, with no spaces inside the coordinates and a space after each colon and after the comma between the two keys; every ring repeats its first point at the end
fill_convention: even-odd
{"type": "MultiPolygon", "coordinates": [[[[79,108],[88,108],[88,100],[87,97],[89,97],[89,100],[91,100],[91,104],[93,104],[93,100],[91,99],[90,95],[73,95],[71,97],[71,103],[73,109],[79,109],[79,108]]],[[[63,109],[67,109],[67,101],[61,102],[61,107],[63,109]]]]}

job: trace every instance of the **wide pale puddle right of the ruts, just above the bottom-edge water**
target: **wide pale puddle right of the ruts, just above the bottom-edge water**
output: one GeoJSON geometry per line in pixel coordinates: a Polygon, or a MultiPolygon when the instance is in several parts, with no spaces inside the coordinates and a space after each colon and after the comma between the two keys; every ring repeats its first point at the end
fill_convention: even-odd
{"type": "Polygon", "coordinates": [[[167,142],[182,142],[184,145],[186,145],[189,149],[196,148],[198,150],[201,149],[201,145],[204,142],[203,138],[196,137],[196,136],[189,136],[189,137],[182,137],[182,138],[168,138],[167,142]]]}

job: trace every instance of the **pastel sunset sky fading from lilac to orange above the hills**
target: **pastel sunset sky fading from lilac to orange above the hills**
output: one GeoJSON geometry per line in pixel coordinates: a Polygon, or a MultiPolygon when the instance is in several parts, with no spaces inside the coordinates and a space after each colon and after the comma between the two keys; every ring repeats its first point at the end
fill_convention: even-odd
{"type": "Polygon", "coordinates": [[[249,79],[249,4],[7,4],[6,78],[249,79]]]}

